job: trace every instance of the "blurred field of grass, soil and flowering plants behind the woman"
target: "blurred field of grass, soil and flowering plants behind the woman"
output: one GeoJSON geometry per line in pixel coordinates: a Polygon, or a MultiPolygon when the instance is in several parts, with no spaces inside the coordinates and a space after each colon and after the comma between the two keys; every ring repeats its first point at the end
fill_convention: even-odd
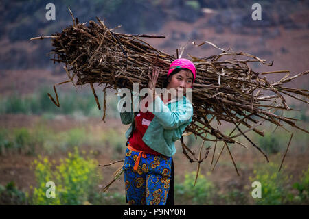
{"type": "MultiPolygon", "coordinates": [[[[100,192],[122,163],[104,168],[98,164],[123,159],[126,147],[124,133],[128,125],[122,125],[119,120],[115,96],[107,98],[104,123],[92,94],[73,96],[74,101],[69,101],[74,94],[62,94],[61,110],[45,95],[46,90],[42,89],[36,95],[14,94],[0,99],[0,204],[126,205],[123,175],[106,193],[100,192]],[[46,197],[47,181],[55,183],[56,198],[46,197]]],[[[298,125],[308,127],[306,110],[288,116],[299,118],[298,125]]],[[[221,128],[225,132],[231,130],[230,125],[221,128]]],[[[226,149],[214,168],[222,144],[217,144],[211,164],[214,145],[206,142],[205,147],[211,146],[211,151],[201,163],[195,186],[196,164],[187,161],[181,153],[180,142],[176,142],[175,203],[308,205],[308,135],[289,127],[294,136],[283,168],[278,172],[290,133],[270,125],[261,129],[265,133],[263,138],[253,133],[248,136],[266,151],[270,163],[247,140],[239,137],[248,149],[229,145],[240,172],[238,176],[226,149]],[[253,181],[262,185],[261,198],[251,196],[253,181]]],[[[197,152],[201,139],[188,136],[185,142],[197,152]]]]}

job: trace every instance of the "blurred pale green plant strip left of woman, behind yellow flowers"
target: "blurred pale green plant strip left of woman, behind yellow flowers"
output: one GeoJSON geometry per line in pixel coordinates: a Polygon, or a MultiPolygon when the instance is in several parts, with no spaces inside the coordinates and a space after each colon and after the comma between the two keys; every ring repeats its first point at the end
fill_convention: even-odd
{"type": "Polygon", "coordinates": [[[46,125],[45,120],[31,128],[0,129],[0,155],[22,153],[36,155],[47,153],[52,155],[73,149],[74,146],[89,145],[92,149],[111,146],[113,158],[124,153],[126,137],[115,129],[104,132],[87,131],[85,127],[74,127],[67,131],[56,132],[46,125]]]}

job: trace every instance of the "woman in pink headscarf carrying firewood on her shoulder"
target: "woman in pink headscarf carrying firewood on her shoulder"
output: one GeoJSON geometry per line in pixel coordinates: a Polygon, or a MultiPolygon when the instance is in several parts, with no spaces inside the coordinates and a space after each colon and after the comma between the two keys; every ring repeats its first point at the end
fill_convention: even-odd
{"type": "MultiPolygon", "coordinates": [[[[131,124],[126,131],[127,149],[124,160],[124,182],[129,205],[172,205],[174,167],[172,155],[176,152],[174,142],[181,138],[185,127],[192,121],[193,107],[185,97],[164,99],[155,93],[159,70],[152,71],[148,88],[150,107],[157,106],[160,112],[148,110],[122,112],[123,124],[131,124]],[[163,109],[163,110],[162,110],[163,109]],[[135,118],[135,119],[134,119],[135,118]],[[167,203],[168,201],[168,203],[167,203]]],[[[192,88],[196,68],[190,60],[177,59],[170,64],[167,90],[192,88]]]]}

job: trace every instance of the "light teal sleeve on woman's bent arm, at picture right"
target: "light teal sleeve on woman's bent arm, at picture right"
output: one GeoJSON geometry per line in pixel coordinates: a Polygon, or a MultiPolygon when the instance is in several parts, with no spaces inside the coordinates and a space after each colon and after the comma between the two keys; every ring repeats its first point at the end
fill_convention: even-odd
{"type": "Polygon", "coordinates": [[[164,129],[176,129],[181,125],[191,123],[193,116],[192,104],[186,98],[178,101],[176,110],[171,111],[157,96],[149,105],[148,110],[152,110],[164,129]]]}

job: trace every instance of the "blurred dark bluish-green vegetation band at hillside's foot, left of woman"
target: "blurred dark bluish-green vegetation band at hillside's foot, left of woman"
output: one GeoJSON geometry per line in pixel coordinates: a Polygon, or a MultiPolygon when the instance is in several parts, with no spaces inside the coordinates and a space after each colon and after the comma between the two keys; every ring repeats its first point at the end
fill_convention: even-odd
{"type": "MultiPolygon", "coordinates": [[[[102,110],[98,110],[95,98],[91,90],[69,92],[58,90],[58,99],[60,107],[56,107],[49,99],[47,93],[52,94],[54,99],[56,96],[52,88],[45,86],[38,88],[33,94],[22,96],[18,92],[7,96],[0,97],[0,113],[12,114],[36,114],[44,115],[46,118],[52,119],[55,114],[75,115],[75,117],[101,117],[102,110]]],[[[99,96],[100,101],[100,96],[99,96]]],[[[100,103],[102,105],[102,103],[100,103]]],[[[117,111],[117,96],[108,94],[106,96],[106,116],[111,118],[119,118],[117,111]]]]}

